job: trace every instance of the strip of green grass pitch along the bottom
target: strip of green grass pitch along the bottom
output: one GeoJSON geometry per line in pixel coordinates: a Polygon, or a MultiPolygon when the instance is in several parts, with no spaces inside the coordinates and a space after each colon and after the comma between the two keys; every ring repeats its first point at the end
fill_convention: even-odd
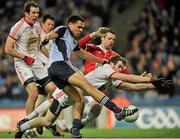
{"type": "MultiPolygon", "coordinates": [[[[180,138],[180,128],[174,129],[90,129],[81,130],[84,138],[180,138]]],[[[70,133],[63,133],[70,138],[70,133]]],[[[14,138],[12,132],[0,132],[0,138],[14,138]]],[[[48,130],[38,138],[55,138],[48,130]]],[[[60,138],[60,137],[58,137],[60,138]]]]}

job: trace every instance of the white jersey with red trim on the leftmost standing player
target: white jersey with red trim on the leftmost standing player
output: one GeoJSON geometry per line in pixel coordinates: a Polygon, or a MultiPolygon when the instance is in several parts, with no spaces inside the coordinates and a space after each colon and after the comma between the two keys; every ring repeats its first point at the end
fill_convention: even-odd
{"type": "Polygon", "coordinates": [[[11,28],[9,36],[17,40],[14,45],[17,52],[36,57],[40,43],[40,30],[37,24],[30,25],[22,18],[11,28]]]}

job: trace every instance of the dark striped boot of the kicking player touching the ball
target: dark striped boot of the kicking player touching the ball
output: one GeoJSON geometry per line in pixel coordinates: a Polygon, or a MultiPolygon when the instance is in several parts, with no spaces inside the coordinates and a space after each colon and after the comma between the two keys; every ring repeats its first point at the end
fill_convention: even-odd
{"type": "Polygon", "coordinates": [[[126,116],[131,116],[134,113],[136,113],[138,111],[138,108],[135,108],[133,110],[128,109],[128,107],[124,107],[122,108],[122,111],[120,113],[116,113],[115,117],[118,121],[121,121],[122,119],[124,119],[126,116]]]}

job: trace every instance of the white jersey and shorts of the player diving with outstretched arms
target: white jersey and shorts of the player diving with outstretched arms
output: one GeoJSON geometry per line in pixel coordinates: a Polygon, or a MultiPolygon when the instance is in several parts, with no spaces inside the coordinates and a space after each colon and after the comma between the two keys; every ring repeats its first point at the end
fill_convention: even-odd
{"type": "MultiPolygon", "coordinates": [[[[85,78],[97,89],[101,86],[105,87],[118,87],[123,81],[118,79],[111,79],[111,76],[115,73],[114,69],[109,64],[99,66],[94,71],[85,75],[85,78]]],[[[69,106],[72,105],[72,101],[67,95],[62,93],[62,90],[57,90],[53,93],[53,97],[58,100],[60,105],[69,106]]],[[[91,103],[94,99],[91,96],[85,96],[86,103],[91,103]]]]}

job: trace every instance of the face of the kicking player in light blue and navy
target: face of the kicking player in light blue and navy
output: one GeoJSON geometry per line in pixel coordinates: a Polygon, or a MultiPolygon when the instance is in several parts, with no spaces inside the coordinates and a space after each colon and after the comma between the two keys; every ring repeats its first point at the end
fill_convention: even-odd
{"type": "Polygon", "coordinates": [[[73,33],[73,35],[75,37],[78,37],[81,34],[81,32],[83,31],[83,29],[85,27],[85,23],[79,20],[76,23],[69,23],[68,27],[71,30],[71,32],[73,33]]]}

